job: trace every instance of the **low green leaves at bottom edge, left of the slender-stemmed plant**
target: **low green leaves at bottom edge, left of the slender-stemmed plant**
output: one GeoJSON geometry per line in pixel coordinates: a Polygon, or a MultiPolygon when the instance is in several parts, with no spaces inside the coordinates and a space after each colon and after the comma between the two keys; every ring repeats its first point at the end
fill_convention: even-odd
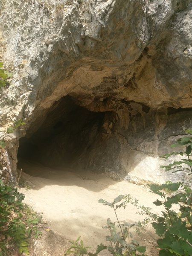
{"type": "Polygon", "coordinates": [[[97,256],[100,253],[100,251],[105,250],[107,248],[107,246],[101,243],[100,245],[97,246],[95,253],[90,253],[87,251],[87,249],[90,247],[85,247],[82,240],[79,243],[80,239],[81,239],[81,236],[79,236],[76,241],[70,241],[71,246],[69,247],[69,249],[64,255],[69,255],[73,253],[73,255],[75,256],[81,256],[81,255],[97,256]]]}

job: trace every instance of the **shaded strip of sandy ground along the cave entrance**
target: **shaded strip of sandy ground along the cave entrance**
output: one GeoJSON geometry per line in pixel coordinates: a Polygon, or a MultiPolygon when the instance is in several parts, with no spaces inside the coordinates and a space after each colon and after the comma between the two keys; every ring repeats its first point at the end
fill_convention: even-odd
{"type": "MultiPolygon", "coordinates": [[[[94,174],[84,170],[75,171],[69,168],[54,170],[41,165],[41,163],[27,160],[20,160],[18,168],[22,170],[20,186],[28,184],[32,186],[33,189],[41,189],[46,185],[58,185],[80,186],[93,192],[99,192],[117,182],[107,177],[105,174],[94,174]],[[41,182],[35,179],[34,183],[33,177],[43,178],[44,181],[41,182]]],[[[18,172],[20,173],[20,171],[18,172]]]]}

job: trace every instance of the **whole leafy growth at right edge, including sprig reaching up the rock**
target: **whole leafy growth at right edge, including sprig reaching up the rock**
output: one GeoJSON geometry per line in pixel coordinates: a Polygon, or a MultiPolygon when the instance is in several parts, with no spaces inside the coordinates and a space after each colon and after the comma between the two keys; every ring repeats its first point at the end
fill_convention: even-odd
{"type": "MultiPolygon", "coordinates": [[[[191,130],[185,131],[192,135],[191,130]]],[[[172,147],[184,146],[185,150],[166,154],[165,159],[173,155],[184,156],[180,161],[174,161],[166,166],[166,171],[186,172],[192,175],[192,136],[182,137],[172,144],[172,147]]],[[[189,180],[190,181],[190,180],[189,180]]],[[[162,200],[154,202],[155,205],[162,205],[165,211],[162,212],[157,221],[152,225],[156,234],[163,236],[157,240],[160,248],[160,256],[190,256],[192,255],[192,189],[184,183],[167,183],[162,185],[151,185],[151,192],[160,195],[162,200]],[[167,196],[166,192],[174,192],[174,195],[167,196]],[[179,213],[172,209],[172,204],[179,205],[179,213]]]]}

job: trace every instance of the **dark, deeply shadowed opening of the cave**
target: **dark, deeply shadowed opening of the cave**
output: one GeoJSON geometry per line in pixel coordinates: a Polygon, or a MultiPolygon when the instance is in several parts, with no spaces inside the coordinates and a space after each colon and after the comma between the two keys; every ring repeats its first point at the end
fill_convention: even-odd
{"type": "Polygon", "coordinates": [[[105,115],[76,104],[70,96],[62,97],[52,106],[41,125],[32,125],[20,138],[17,167],[22,161],[38,162],[53,169],[80,166],[85,169],[86,155],[102,134],[105,115]],[[38,127],[37,129],[37,126],[38,127]],[[34,128],[36,127],[36,128],[34,128]]]}

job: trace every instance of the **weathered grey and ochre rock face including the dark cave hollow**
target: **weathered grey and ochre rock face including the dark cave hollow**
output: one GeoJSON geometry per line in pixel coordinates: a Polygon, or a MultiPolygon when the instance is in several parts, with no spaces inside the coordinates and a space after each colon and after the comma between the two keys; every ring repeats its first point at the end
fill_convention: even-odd
{"type": "Polygon", "coordinates": [[[191,0],[2,0],[0,91],[11,169],[48,166],[171,179],[158,156],[192,128],[191,0]]]}

